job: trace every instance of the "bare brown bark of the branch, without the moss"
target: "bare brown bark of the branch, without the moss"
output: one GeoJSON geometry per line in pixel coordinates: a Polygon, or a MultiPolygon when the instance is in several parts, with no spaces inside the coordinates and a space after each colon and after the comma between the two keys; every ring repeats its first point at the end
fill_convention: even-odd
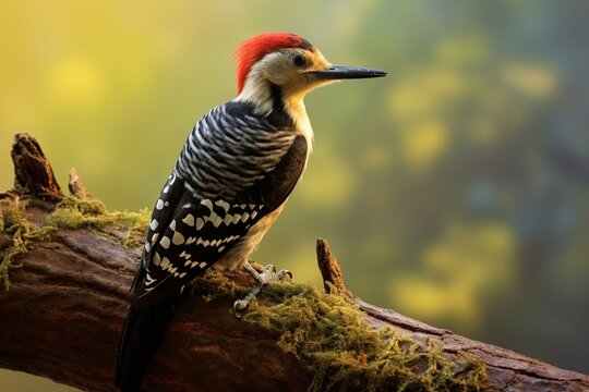
{"type": "MultiPolygon", "coordinates": [[[[15,189],[20,195],[7,193],[3,197],[25,199],[28,221],[41,225],[62,194],[33,140],[16,135],[13,158],[16,155],[15,189]],[[36,162],[34,172],[26,169],[29,159],[36,162]],[[25,183],[19,183],[19,177],[26,179],[25,183]]],[[[105,235],[89,229],[59,229],[48,240],[31,243],[17,257],[22,268],[11,269],[10,290],[0,292],[0,367],[83,390],[113,390],[117,348],[129,306],[127,292],[139,266],[140,249],[122,245],[118,240],[120,228],[109,230],[105,235]]],[[[0,232],[2,259],[13,235],[0,232]]],[[[345,291],[341,270],[325,241],[317,242],[317,259],[326,290],[345,291]]],[[[230,278],[242,285],[253,283],[240,271],[230,278]]],[[[366,328],[390,327],[416,341],[438,342],[448,360],[469,357],[481,362],[488,373],[484,390],[589,390],[588,376],[459,336],[347,293],[365,313],[366,328]]],[[[231,313],[233,299],[185,296],[149,365],[146,391],[309,388],[314,369],[283,352],[276,344],[278,333],[236,318],[231,313]]]]}

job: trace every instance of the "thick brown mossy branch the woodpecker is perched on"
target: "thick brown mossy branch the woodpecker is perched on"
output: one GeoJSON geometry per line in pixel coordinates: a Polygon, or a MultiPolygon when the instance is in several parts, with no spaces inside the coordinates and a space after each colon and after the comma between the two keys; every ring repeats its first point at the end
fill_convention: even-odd
{"type": "MultiPolygon", "coordinates": [[[[35,173],[52,176],[33,142],[15,137],[13,157],[25,157],[15,164],[31,158],[35,173]]],[[[55,181],[38,186],[32,183],[37,174],[15,172],[15,188],[0,197],[0,367],[111,391],[148,213],[107,211],[87,198],[75,173],[74,197],[63,196],[55,181]]],[[[253,283],[249,274],[211,271],[195,281],[151,364],[145,390],[589,389],[587,376],[362,302],[346,290],[323,240],[317,260],[328,294],[294,281],[271,284],[242,319],[230,309],[253,283]]]]}

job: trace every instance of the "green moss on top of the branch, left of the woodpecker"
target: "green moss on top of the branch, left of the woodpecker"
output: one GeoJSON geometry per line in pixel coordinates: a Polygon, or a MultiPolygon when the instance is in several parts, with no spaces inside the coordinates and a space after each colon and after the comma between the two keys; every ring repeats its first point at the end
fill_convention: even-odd
{"type": "Polygon", "coordinates": [[[24,203],[19,198],[0,199],[0,233],[8,234],[12,242],[0,264],[0,284],[8,290],[9,271],[22,267],[15,257],[26,253],[32,242],[49,240],[57,229],[88,228],[121,242],[125,247],[133,247],[142,244],[148,222],[146,209],[109,212],[100,200],[67,196],[47,216],[45,223],[37,226],[26,219],[24,203]],[[121,228],[123,234],[115,235],[121,228]]]}

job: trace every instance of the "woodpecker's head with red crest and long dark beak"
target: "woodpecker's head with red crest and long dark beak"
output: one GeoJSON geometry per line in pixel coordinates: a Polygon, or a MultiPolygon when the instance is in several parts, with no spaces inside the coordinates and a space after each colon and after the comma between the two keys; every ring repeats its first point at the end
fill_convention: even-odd
{"type": "Polygon", "coordinates": [[[386,72],[334,65],[306,39],[291,33],[265,33],[236,51],[238,94],[262,98],[271,87],[285,97],[302,98],[327,83],[344,78],[385,76],[386,72]]]}

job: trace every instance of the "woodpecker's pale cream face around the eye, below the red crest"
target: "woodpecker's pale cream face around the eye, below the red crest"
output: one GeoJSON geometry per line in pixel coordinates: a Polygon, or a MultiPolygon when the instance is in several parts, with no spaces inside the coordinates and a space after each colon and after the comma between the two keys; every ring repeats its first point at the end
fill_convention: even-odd
{"type": "Polygon", "coordinates": [[[332,83],[318,79],[312,71],[327,70],[332,64],[315,48],[284,49],[266,54],[259,61],[252,72],[262,75],[268,82],[283,88],[287,96],[304,95],[313,88],[332,83]]]}

